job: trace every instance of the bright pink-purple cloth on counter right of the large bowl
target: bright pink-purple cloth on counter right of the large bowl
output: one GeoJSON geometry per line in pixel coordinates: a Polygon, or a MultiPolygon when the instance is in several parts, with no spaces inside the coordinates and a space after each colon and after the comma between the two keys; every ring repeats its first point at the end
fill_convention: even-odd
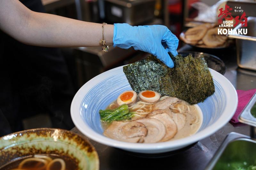
{"type": "Polygon", "coordinates": [[[238,95],[238,106],[236,109],[236,113],[234,114],[234,116],[232,117],[232,119],[230,120],[233,123],[238,123],[238,116],[240,115],[240,113],[242,112],[242,110],[244,109],[244,107],[247,105],[247,103],[250,101],[250,99],[252,98],[253,94],[256,92],[256,89],[251,89],[251,90],[236,90],[237,95],[238,95]]]}

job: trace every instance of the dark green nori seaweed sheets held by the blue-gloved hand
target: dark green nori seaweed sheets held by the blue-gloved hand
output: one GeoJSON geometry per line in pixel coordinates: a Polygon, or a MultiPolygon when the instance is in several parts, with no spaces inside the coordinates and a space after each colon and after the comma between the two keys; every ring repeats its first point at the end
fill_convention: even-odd
{"type": "Polygon", "coordinates": [[[154,90],[162,95],[177,97],[189,104],[204,101],[215,92],[212,75],[201,55],[172,56],[174,68],[167,67],[155,56],[123,67],[124,74],[135,92],[154,90]]]}

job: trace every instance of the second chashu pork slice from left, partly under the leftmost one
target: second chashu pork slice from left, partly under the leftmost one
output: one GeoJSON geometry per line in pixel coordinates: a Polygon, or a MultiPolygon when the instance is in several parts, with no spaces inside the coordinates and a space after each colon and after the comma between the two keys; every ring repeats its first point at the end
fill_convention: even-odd
{"type": "Polygon", "coordinates": [[[155,143],[163,139],[166,133],[164,123],[155,118],[137,119],[137,122],[143,123],[148,129],[148,134],[143,137],[144,143],[155,143]]]}

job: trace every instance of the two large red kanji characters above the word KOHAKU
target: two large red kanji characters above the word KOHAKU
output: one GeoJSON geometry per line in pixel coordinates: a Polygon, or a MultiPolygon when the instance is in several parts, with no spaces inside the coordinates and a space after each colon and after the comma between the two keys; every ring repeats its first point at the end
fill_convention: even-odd
{"type": "MultiPolygon", "coordinates": [[[[233,20],[233,17],[231,16],[231,11],[232,8],[230,8],[227,4],[225,5],[225,10],[223,10],[223,8],[220,8],[220,14],[218,15],[218,17],[220,18],[218,20],[218,23],[221,24],[223,21],[222,19],[225,18],[226,20],[233,20]]],[[[245,12],[241,15],[241,17],[238,15],[235,17],[235,24],[234,27],[237,26],[239,23],[241,23],[241,26],[247,26],[247,18],[245,17],[246,14],[245,12]],[[240,19],[239,19],[240,18],[240,19]]]]}

